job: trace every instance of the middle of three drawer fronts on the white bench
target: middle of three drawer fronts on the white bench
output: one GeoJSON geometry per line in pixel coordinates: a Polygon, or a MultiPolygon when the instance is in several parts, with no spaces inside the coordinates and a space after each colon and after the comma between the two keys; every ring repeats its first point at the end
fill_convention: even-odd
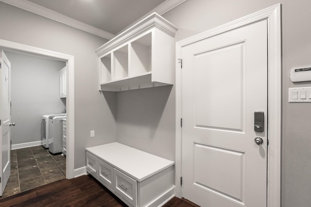
{"type": "Polygon", "coordinates": [[[114,170],[113,167],[102,160],[98,160],[98,178],[107,186],[114,189],[114,170]]]}

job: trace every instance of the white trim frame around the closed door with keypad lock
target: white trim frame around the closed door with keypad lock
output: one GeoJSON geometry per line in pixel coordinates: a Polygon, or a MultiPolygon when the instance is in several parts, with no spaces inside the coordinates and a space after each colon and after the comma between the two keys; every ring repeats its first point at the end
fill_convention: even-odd
{"type": "MultiPolygon", "coordinates": [[[[181,49],[197,41],[228,32],[261,20],[268,22],[268,168],[267,207],[280,207],[281,197],[281,4],[260,10],[222,26],[176,42],[176,60],[181,49]]],[[[180,64],[176,61],[176,143],[175,143],[175,195],[182,196],[182,79],[180,64]]]]}

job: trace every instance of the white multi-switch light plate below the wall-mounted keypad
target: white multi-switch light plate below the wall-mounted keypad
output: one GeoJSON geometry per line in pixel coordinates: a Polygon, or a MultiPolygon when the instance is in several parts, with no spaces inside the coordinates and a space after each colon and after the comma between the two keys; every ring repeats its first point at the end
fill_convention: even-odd
{"type": "Polygon", "coordinates": [[[288,89],[289,103],[311,102],[311,87],[299,87],[288,89]]]}

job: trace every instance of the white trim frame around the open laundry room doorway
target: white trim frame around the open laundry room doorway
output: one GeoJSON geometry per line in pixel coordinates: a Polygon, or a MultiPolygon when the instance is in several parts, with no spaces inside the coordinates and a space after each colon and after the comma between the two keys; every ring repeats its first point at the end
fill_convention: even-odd
{"type": "Polygon", "coordinates": [[[66,163],[66,178],[74,177],[74,56],[43,48],[23,45],[15,42],[0,39],[0,48],[13,49],[22,51],[28,54],[36,54],[47,58],[52,58],[67,63],[67,163],[66,163]]]}

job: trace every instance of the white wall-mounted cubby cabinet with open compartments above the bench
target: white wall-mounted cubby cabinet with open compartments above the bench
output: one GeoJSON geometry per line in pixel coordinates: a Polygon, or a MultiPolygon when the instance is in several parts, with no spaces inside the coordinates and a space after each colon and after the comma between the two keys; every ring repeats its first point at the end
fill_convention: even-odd
{"type": "Polygon", "coordinates": [[[100,90],[173,84],[176,32],[173,24],[153,13],[98,48],[100,90]]]}

